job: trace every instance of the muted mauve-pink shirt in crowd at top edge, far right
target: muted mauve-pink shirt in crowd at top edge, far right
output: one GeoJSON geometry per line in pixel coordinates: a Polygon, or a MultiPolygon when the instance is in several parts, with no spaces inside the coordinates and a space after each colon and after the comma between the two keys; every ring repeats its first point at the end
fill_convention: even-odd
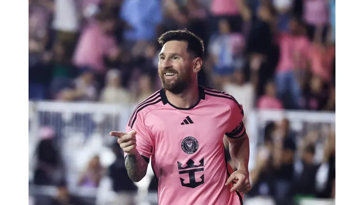
{"type": "Polygon", "coordinates": [[[303,19],[312,26],[324,26],[329,20],[328,0],[303,0],[303,19]]]}

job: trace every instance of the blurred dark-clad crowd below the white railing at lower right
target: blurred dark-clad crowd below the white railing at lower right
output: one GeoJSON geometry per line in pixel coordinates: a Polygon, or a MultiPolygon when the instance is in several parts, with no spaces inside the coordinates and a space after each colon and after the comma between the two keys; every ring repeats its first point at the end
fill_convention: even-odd
{"type": "Polygon", "coordinates": [[[335,198],[335,132],[313,125],[305,132],[293,130],[287,119],[265,126],[248,196],[270,196],[275,205],[335,198]]]}

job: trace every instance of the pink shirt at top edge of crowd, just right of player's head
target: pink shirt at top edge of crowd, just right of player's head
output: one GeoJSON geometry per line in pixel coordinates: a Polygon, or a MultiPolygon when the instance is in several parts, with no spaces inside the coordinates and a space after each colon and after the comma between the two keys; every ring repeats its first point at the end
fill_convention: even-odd
{"type": "Polygon", "coordinates": [[[239,15],[239,10],[236,0],[212,0],[211,13],[213,16],[239,15]]]}

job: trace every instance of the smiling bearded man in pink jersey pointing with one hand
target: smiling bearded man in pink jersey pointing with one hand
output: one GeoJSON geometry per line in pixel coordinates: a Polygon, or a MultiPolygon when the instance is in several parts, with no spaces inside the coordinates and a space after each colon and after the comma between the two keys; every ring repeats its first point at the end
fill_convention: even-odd
{"type": "Polygon", "coordinates": [[[250,190],[249,139],[243,108],[223,92],[197,85],[204,45],[187,30],[159,37],[163,89],[141,102],[126,132],[111,132],[125,153],[129,177],[140,181],[152,160],[160,205],[238,205],[250,190]],[[224,156],[224,134],[237,171],[224,156]]]}

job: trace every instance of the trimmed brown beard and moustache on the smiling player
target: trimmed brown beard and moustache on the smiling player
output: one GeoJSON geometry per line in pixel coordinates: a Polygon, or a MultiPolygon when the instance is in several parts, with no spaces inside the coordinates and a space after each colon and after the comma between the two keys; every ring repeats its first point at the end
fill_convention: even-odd
{"type": "Polygon", "coordinates": [[[180,72],[177,72],[176,70],[168,70],[168,72],[175,72],[177,75],[177,79],[171,81],[165,78],[165,71],[158,72],[162,87],[173,94],[181,94],[184,90],[187,89],[188,85],[191,82],[188,73],[182,74],[180,72]]]}

